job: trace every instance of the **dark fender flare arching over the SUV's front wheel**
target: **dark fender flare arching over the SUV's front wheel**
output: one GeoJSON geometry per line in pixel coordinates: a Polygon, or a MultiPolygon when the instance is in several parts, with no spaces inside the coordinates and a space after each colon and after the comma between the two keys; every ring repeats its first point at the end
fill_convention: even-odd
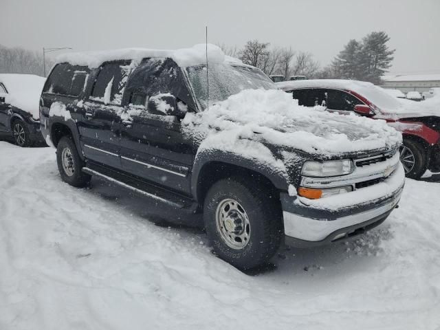
{"type": "Polygon", "coordinates": [[[256,159],[246,158],[228,151],[210,149],[197,153],[197,156],[195,157],[195,163],[191,175],[191,192],[192,196],[196,199],[198,196],[199,179],[200,175],[203,173],[203,168],[212,162],[238,166],[244,170],[252,170],[269,179],[279,190],[287,191],[289,186],[287,182],[287,174],[283,168],[271,166],[265,162],[259,162],[256,159]]]}

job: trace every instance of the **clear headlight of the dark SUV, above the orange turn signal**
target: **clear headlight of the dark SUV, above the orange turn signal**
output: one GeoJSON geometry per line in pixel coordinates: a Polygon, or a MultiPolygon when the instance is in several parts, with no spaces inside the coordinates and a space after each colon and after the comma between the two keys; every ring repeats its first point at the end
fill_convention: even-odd
{"type": "Polygon", "coordinates": [[[353,173],[350,159],[327,160],[325,162],[305,162],[301,174],[306,177],[337,177],[353,173]]]}

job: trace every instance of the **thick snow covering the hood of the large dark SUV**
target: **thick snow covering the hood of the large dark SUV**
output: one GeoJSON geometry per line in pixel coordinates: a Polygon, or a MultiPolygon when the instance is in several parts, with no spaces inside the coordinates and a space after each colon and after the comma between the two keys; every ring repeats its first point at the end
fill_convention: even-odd
{"type": "Polygon", "coordinates": [[[201,143],[199,152],[219,149],[267,161],[273,156],[265,144],[341,155],[401,143],[401,134],[383,120],[298,106],[276,89],[246,89],[206,111],[187,113],[182,123],[184,133],[201,143]]]}

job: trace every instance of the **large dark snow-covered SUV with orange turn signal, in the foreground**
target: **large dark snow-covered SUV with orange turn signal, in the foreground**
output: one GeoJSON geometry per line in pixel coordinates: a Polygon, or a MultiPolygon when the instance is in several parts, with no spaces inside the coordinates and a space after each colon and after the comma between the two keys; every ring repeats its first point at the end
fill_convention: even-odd
{"type": "Polygon", "coordinates": [[[85,186],[97,175],[203,212],[214,252],[240,269],[283,239],[329,243],[388,217],[404,186],[400,133],[298,107],[259,69],[205,50],[58,58],[40,111],[61,178],[85,186]]]}

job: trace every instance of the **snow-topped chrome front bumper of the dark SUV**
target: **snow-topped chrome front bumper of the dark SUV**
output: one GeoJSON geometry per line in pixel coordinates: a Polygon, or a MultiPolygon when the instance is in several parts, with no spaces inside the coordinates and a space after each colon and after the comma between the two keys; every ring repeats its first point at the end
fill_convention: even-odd
{"type": "Polygon", "coordinates": [[[304,203],[301,198],[281,194],[285,241],[287,245],[307,247],[331,243],[361,234],[382,223],[399,203],[404,188],[404,170],[401,165],[384,182],[375,186],[347,192],[338,197],[304,203]],[[380,192],[380,197],[377,193],[380,192]],[[381,193],[382,192],[382,193],[381,193]],[[376,198],[369,199],[368,196],[376,198]],[[362,200],[364,196],[364,200],[362,200]],[[345,199],[337,207],[337,199],[345,199]],[[328,203],[326,208],[326,201],[328,203]],[[347,205],[347,201],[353,201],[347,205]],[[356,202],[355,202],[356,201],[356,202]]]}

